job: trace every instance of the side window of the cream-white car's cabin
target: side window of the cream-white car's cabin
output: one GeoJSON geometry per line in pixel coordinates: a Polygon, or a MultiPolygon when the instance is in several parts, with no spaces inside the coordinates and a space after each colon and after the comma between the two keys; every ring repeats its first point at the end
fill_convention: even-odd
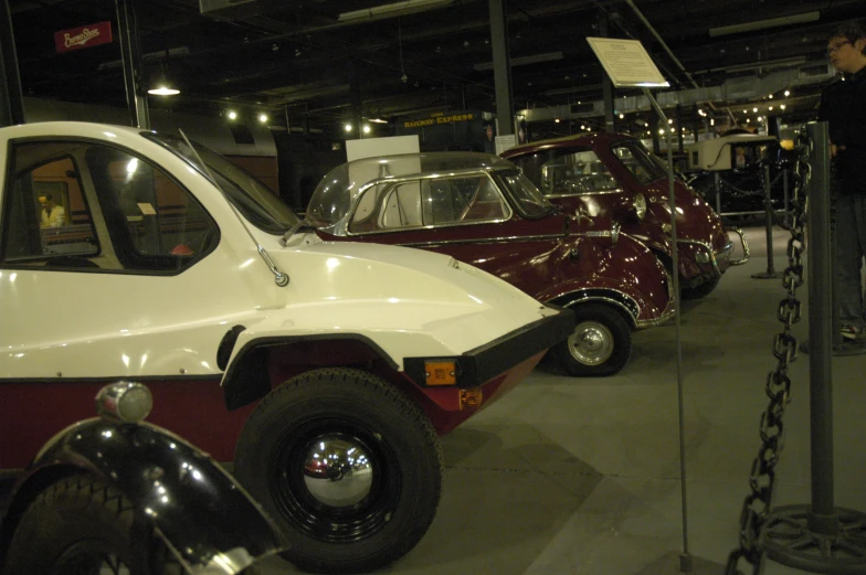
{"type": "Polygon", "coordinates": [[[3,264],[177,273],[215,246],[202,206],[131,152],[39,141],[11,153],[3,264]],[[63,219],[54,213],[61,204],[63,219]]]}

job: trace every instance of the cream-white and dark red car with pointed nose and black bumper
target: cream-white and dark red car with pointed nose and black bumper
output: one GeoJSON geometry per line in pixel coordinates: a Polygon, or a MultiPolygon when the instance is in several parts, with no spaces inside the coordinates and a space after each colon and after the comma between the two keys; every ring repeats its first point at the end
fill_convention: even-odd
{"type": "Polygon", "coordinates": [[[0,164],[0,469],[88,416],[103,383],[146,382],[150,419],[233,458],[306,571],[411,550],[440,499],[437,435],[573,330],[452,257],[323,242],[182,137],[14,126],[0,164]]]}

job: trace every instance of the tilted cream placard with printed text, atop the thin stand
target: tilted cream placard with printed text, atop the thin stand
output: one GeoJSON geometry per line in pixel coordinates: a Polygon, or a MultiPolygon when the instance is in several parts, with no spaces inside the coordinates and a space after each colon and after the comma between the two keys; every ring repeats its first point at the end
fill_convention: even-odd
{"type": "Polygon", "coordinates": [[[636,40],[588,38],[604,72],[617,88],[666,88],[670,84],[636,40]]]}

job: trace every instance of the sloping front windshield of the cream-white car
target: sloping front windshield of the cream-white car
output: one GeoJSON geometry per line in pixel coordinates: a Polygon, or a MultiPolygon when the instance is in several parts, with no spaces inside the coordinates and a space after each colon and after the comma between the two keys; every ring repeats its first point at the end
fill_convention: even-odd
{"type": "Polygon", "coordinates": [[[278,195],[249,172],[232,163],[200,143],[193,142],[196,152],[207,164],[202,169],[196,153],[187,142],[175,136],[165,134],[145,134],[169,150],[173,151],[193,168],[208,175],[208,170],[213,174],[216,184],[247,222],[268,234],[279,235],[299,222],[299,217],[286,205],[278,195]]]}

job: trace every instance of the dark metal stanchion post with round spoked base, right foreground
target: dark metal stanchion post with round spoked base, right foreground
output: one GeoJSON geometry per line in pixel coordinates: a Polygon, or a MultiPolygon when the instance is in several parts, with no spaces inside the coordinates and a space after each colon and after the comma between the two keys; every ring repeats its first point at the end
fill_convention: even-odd
{"type": "Polygon", "coordinates": [[[807,130],[813,150],[807,266],[812,503],[773,510],[761,541],[767,556],[783,565],[813,573],[866,573],[866,514],[834,503],[830,138],[826,123],[810,124],[807,130]]]}

